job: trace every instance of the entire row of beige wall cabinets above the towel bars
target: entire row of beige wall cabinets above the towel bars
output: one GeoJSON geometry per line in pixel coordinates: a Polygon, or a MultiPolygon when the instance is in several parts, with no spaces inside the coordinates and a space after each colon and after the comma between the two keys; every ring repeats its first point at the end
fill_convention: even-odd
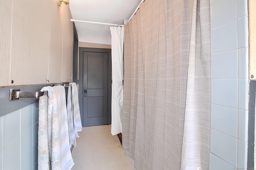
{"type": "Polygon", "coordinates": [[[53,0],[1,2],[0,86],[70,81],[70,19],[69,6],[58,7],[53,0]]]}

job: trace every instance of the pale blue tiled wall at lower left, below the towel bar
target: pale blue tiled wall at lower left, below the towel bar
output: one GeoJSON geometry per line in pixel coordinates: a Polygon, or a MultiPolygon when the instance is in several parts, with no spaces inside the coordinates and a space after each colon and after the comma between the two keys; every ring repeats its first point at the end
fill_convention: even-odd
{"type": "Polygon", "coordinates": [[[1,138],[0,170],[36,170],[38,102],[0,117],[1,138]]]}

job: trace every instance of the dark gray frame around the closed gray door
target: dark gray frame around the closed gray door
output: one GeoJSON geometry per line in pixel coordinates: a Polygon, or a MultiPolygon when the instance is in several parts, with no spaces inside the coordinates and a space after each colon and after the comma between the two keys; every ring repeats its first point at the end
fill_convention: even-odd
{"type": "MultiPolygon", "coordinates": [[[[79,57],[78,57],[78,69],[74,68],[74,70],[78,70],[78,101],[80,106],[80,114],[81,114],[81,120],[83,125],[83,51],[86,52],[96,52],[96,53],[108,53],[108,125],[111,124],[111,90],[112,90],[112,58],[111,58],[111,49],[99,49],[99,48],[87,48],[87,47],[79,47],[79,57]],[[81,88],[82,87],[82,88],[81,88]]],[[[84,126],[84,125],[83,125],[84,126]]]]}

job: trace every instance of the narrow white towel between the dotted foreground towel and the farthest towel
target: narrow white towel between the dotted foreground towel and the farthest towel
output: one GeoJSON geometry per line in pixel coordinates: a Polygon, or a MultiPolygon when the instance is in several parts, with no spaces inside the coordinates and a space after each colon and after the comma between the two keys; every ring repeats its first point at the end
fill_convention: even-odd
{"type": "Polygon", "coordinates": [[[68,99],[67,99],[67,115],[68,115],[68,137],[70,148],[72,145],[76,146],[76,136],[74,133],[74,122],[72,113],[72,102],[71,102],[71,87],[68,87],[68,99]]]}

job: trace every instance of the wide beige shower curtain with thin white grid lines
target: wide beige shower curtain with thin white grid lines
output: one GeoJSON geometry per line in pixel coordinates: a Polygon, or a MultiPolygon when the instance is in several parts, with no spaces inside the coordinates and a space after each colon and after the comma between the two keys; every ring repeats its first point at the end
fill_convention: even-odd
{"type": "Polygon", "coordinates": [[[146,0],[124,35],[123,148],[137,170],[207,170],[210,0],[146,0]]]}

